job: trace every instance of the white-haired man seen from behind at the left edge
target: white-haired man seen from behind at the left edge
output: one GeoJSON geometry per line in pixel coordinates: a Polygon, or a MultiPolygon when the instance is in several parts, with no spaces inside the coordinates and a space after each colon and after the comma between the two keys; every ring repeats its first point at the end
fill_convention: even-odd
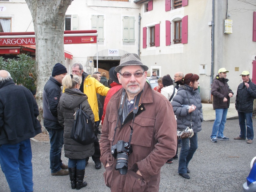
{"type": "Polygon", "coordinates": [[[0,71],[0,165],[11,191],[33,191],[30,138],[41,133],[33,94],[0,71]]]}

